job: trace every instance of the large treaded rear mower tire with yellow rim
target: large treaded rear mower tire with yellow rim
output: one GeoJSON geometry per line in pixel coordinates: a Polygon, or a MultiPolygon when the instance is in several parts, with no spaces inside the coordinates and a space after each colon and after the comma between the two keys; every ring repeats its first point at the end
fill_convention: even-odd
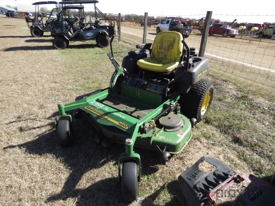
{"type": "Polygon", "coordinates": [[[189,119],[195,118],[197,123],[204,119],[212,102],[213,87],[204,79],[194,83],[188,93],[180,96],[180,112],[189,119]]]}

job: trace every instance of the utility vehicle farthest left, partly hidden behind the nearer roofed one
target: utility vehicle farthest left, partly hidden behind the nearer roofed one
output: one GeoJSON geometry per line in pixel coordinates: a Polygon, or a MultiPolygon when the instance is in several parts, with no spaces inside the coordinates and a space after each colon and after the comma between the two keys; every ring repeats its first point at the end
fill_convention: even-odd
{"type": "Polygon", "coordinates": [[[33,37],[40,37],[44,34],[44,32],[50,31],[50,22],[56,20],[56,18],[50,18],[49,15],[45,20],[45,23],[43,22],[43,18],[46,17],[46,15],[39,13],[39,5],[43,4],[55,4],[55,8],[57,8],[56,1],[39,1],[32,3],[32,5],[35,5],[34,18],[30,18],[29,15],[26,15],[25,20],[27,27],[30,29],[30,34],[33,37]],[[29,25],[29,23],[31,23],[31,25],[29,25]]]}

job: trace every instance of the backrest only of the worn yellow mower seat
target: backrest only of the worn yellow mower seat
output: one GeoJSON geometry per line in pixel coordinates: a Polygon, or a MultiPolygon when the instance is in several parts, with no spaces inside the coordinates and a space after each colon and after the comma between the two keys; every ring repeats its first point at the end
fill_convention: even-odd
{"type": "Polygon", "coordinates": [[[161,31],[153,41],[151,58],[159,64],[179,62],[182,55],[182,35],[177,31],[161,31]]]}

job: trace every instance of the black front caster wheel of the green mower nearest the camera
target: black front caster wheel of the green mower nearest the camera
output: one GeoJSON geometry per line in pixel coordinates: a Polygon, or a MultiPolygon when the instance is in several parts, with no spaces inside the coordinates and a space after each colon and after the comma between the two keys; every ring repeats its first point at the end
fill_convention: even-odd
{"type": "Polygon", "coordinates": [[[125,201],[136,200],[138,193],[137,164],[135,162],[124,162],[121,172],[121,190],[125,201]]]}

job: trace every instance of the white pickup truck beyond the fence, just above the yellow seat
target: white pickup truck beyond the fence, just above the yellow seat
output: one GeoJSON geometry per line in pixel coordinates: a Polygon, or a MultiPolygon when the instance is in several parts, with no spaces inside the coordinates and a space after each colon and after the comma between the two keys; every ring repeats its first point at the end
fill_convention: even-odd
{"type": "Polygon", "coordinates": [[[180,18],[165,19],[156,25],[156,33],[160,31],[178,31],[187,38],[193,31],[192,27],[180,18]]]}

